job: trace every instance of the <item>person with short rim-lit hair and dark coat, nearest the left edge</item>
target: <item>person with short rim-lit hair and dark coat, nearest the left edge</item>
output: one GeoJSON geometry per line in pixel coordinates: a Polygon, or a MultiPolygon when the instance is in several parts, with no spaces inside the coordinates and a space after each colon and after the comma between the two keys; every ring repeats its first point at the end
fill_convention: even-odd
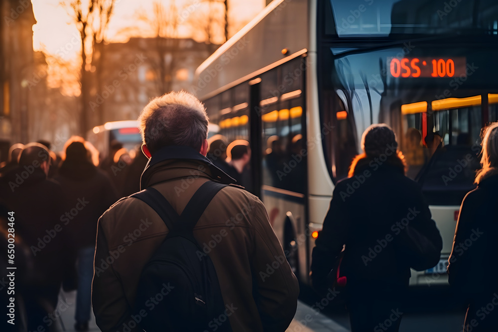
{"type": "MultiPolygon", "coordinates": [[[[20,153],[19,167],[0,179],[0,198],[13,212],[15,235],[30,249],[32,272],[15,289],[24,299],[28,331],[51,331],[55,326],[47,315],[56,309],[62,281],[74,259],[60,222],[64,214],[61,187],[47,179],[50,160],[43,145],[27,144],[20,153]]],[[[16,258],[18,254],[20,247],[16,258]]],[[[13,266],[19,263],[14,259],[13,266]]]]}

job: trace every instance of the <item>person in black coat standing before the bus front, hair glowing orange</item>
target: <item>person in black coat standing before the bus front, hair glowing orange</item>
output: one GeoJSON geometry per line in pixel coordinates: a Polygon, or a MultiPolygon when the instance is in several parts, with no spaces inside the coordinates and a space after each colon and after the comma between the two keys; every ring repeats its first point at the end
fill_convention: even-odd
{"type": "Polygon", "coordinates": [[[439,254],[442,239],[421,189],[405,176],[392,130],[385,124],[370,126],[362,148],[349,178],[334,189],[313,249],[311,278],[315,289],[325,293],[327,275],[345,245],[341,275],[347,277],[352,331],[398,331],[400,296],[410,278],[410,262],[401,254],[406,226],[423,233],[432,229],[439,254]]]}

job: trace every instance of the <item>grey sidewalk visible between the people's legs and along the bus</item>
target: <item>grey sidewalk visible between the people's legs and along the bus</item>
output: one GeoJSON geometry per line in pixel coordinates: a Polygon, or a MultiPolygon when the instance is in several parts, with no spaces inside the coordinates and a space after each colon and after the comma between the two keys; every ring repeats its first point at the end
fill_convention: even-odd
{"type": "MultiPolygon", "coordinates": [[[[67,307],[61,311],[61,331],[74,332],[74,312],[76,309],[76,291],[59,294],[59,303],[64,302],[67,307]]],[[[99,332],[95,324],[95,317],[92,312],[92,318],[89,324],[89,331],[99,332]]],[[[301,301],[297,303],[296,316],[292,320],[286,332],[349,332],[348,329],[334,322],[330,318],[311,310],[309,306],[301,301]]]]}

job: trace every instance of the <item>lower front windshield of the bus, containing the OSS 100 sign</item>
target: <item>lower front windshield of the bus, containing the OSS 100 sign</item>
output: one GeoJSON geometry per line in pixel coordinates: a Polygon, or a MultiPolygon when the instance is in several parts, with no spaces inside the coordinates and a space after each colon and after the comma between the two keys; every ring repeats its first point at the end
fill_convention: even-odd
{"type": "Polygon", "coordinates": [[[324,140],[334,180],[348,174],[372,123],[387,123],[432,205],[460,205],[474,188],[480,131],[498,119],[497,43],[402,41],[381,50],[324,48],[323,123],[335,130],[324,140]]]}

